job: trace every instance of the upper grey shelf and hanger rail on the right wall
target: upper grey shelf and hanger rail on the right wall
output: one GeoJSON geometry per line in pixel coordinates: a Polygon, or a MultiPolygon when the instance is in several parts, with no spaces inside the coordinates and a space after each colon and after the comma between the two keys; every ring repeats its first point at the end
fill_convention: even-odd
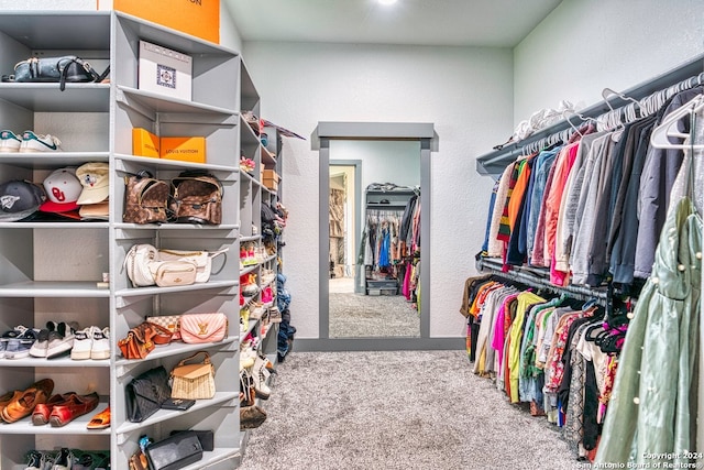
{"type": "MultiPolygon", "coordinates": [[[[704,72],[703,64],[704,54],[698,54],[662,75],[615,95],[614,98],[608,101],[604,99],[588,108],[580,110],[580,114],[585,118],[595,119],[607,112],[613,112],[612,109],[632,106],[629,99],[640,101],[680,83],[689,84],[690,88],[694,87],[697,85],[702,72],[704,72]],[[618,95],[628,98],[625,99],[618,95]]],[[[572,122],[574,122],[574,120],[572,122]]],[[[521,141],[512,142],[502,146],[499,150],[479,156],[476,159],[476,172],[480,175],[488,175],[498,179],[504,168],[506,168],[510,162],[525,155],[527,149],[540,146],[540,142],[554,142],[557,139],[569,139],[572,132],[572,124],[568,119],[561,119],[552,125],[534,132],[521,141]]]]}

